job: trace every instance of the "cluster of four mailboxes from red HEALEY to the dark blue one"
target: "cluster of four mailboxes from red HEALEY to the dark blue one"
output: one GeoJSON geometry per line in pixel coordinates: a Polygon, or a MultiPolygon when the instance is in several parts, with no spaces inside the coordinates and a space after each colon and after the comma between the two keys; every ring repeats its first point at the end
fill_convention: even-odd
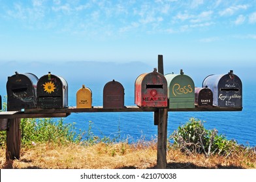
{"type": "Polygon", "coordinates": [[[242,82],[232,72],[209,75],[202,87],[195,87],[193,79],[180,74],[154,72],[139,75],[135,81],[135,104],[140,107],[170,109],[197,107],[242,107],[242,82]]]}

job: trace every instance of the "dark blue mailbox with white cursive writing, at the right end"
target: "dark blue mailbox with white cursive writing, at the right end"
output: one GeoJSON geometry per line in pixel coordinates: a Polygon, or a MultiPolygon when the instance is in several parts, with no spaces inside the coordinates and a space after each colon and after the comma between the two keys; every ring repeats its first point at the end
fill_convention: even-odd
{"type": "Polygon", "coordinates": [[[209,75],[202,83],[214,94],[214,106],[242,107],[242,81],[231,70],[227,74],[209,75]]]}

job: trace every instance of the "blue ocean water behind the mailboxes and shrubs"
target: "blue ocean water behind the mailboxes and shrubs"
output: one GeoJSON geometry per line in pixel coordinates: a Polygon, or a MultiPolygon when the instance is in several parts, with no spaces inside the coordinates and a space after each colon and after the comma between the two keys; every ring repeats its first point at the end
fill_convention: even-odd
{"type": "MultiPolygon", "coordinates": [[[[69,106],[76,105],[76,92],[88,86],[93,92],[93,105],[103,105],[103,82],[77,83],[69,82],[69,106]]],[[[121,83],[125,88],[125,105],[134,103],[134,82],[121,83]]],[[[5,83],[3,83],[5,85],[5,83]]],[[[204,120],[206,129],[217,129],[219,134],[225,135],[229,140],[234,139],[238,144],[256,146],[255,103],[256,83],[243,83],[243,110],[241,112],[168,112],[168,135],[185,124],[189,118],[204,120]]],[[[2,96],[6,95],[5,86],[0,88],[2,96]]],[[[157,136],[157,126],[153,124],[153,112],[95,112],[72,113],[64,119],[65,123],[76,123],[75,127],[88,131],[91,121],[94,135],[120,136],[129,139],[129,142],[140,138],[150,140],[157,136]]]]}

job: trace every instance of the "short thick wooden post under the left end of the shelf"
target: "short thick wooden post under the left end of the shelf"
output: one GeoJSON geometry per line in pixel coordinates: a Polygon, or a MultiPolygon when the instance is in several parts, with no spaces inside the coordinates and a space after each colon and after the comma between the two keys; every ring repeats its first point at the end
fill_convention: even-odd
{"type": "Polygon", "coordinates": [[[7,130],[7,151],[6,160],[20,159],[20,144],[22,141],[22,133],[20,129],[20,118],[9,119],[9,127],[7,130]]]}

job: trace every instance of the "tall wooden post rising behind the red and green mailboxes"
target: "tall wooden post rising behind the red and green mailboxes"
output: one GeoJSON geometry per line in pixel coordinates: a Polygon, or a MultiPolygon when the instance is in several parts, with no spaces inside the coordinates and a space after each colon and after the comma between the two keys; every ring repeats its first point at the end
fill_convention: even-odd
{"type": "MultiPolygon", "coordinates": [[[[163,74],[163,55],[158,55],[158,72],[163,74]]],[[[168,109],[159,109],[157,127],[157,168],[167,168],[167,120],[168,109]]]]}

